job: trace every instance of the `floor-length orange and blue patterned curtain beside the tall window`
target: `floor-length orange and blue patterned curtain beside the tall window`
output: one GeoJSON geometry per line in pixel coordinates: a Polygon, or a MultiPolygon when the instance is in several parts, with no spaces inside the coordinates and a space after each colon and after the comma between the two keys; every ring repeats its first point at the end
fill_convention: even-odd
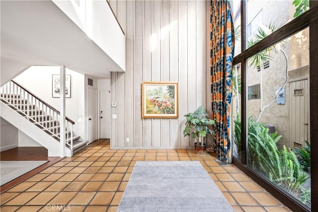
{"type": "Polygon", "coordinates": [[[211,0],[211,102],[216,120],[214,151],[218,158],[232,162],[230,105],[232,99],[232,59],[234,27],[228,0],[211,0]]]}

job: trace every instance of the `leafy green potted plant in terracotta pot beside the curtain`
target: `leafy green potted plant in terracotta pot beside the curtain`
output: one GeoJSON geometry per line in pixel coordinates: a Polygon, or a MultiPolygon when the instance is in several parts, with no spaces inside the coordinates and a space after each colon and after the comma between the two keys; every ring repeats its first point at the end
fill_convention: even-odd
{"type": "Polygon", "coordinates": [[[214,131],[209,129],[209,126],[215,125],[215,121],[208,119],[208,114],[204,107],[200,106],[193,113],[184,115],[186,122],[183,130],[183,136],[190,136],[195,139],[194,148],[199,154],[204,154],[207,144],[204,143],[204,138],[214,131]],[[204,152],[204,153],[203,153],[204,152]]]}

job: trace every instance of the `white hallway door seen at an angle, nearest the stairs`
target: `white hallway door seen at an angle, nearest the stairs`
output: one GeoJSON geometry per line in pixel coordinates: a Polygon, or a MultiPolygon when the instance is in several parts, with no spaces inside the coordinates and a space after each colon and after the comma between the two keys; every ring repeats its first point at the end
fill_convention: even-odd
{"type": "Polygon", "coordinates": [[[97,140],[97,90],[88,88],[88,143],[97,140]]]}

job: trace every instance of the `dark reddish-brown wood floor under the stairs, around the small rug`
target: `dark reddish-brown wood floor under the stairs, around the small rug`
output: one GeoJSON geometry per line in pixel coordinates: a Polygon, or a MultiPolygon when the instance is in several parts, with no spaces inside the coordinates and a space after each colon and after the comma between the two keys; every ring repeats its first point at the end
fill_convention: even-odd
{"type": "Polygon", "coordinates": [[[49,162],[33,169],[32,171],[2,185],[0,187],[0,193],[8,190],[12,186],[32,177],[33,175],[41,172],[47,167],[60,161],[63,157],[48,157],[48,150],[44,147],[16,147],[0,152],[0,160],[48,160],[49,162]]]}

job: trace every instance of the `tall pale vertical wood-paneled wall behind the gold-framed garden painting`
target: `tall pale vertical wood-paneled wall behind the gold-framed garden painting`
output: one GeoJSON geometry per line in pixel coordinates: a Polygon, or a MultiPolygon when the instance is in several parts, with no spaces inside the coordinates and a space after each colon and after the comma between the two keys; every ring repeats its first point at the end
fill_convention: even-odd
{"type": "Polygon", "coordinates": [[[209,1],[110,0],[110,5],[126,36],[126,72],[111,73],[112,102],[117,103],[111,147],[193,146],[182,134],[183,115],[201,105],[211,107],[209,1]],[[142,119],[142,81],[179,82],[178,119],[142,119]]]}

